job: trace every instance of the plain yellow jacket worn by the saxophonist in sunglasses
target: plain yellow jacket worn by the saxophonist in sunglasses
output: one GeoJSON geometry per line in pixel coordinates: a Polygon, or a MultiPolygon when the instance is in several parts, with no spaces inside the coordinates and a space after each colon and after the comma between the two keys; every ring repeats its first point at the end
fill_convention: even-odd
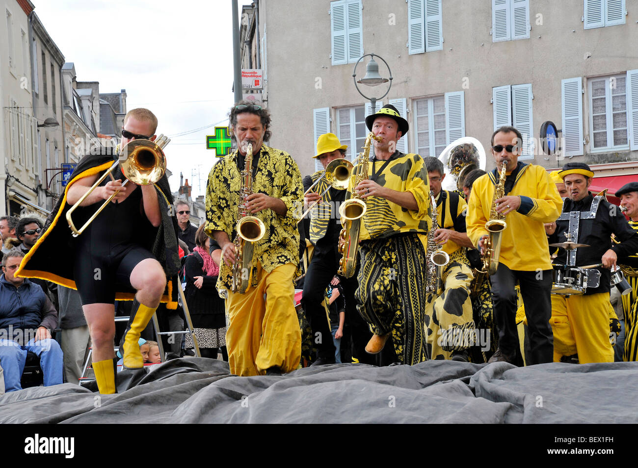
{"type": "MultiPolygon", "coordinates": [[[[517,169],[514,187],[506,195],[521,197],[521,206],[505,216],[507,227],[501,236],[499,261],[512,270],[549,270],[552,265],[543,223],[556,221],[563,201],[542,166],[519,162],[517,169]]],[[[494,186],[498,183],[498,174],[494,173],[496,171],[481,176],[472,186],[466,224],[473,245],[478,245],[481,236],[487,234],[485,223],[489,219],[494,186]]]]}

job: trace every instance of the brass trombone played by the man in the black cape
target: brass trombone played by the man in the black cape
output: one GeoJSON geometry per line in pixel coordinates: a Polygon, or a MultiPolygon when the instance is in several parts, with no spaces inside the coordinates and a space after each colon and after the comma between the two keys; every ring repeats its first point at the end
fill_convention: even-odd
{"type": "MultiPolygon", "coordinates": [[[[122,187],[131,181],[137,183],[137,185],[151,185],[161,179],[166,172],[166,156],[162,151],[163,148],[168,145],[170,138],[160,135],[156,141],[148,139],[135,139],[122,148],[119,153],[119,158],[113,163],[107,172],[103,174],[82,197],[75,202],[73,206],[66,212],[66,221],[69,223],[71,231],[73,231],[73,237],[77,238],[84,230],[93,222],[101,211],[107,207],[111,200],[119,193],[119,190],[113,195],[108,197],[100,209],[94,213],[87,222],[84,223],[80,229],[75,228],[73,220],[71,220],[71,213],[80,206],[86,197],[95,190],[100,183],[115,170],[118,164],[121,164],[122,174],[126,180],[122,183],[122,187]]],[[[112,176],[111,176],[112,177],[112,176]]]]}

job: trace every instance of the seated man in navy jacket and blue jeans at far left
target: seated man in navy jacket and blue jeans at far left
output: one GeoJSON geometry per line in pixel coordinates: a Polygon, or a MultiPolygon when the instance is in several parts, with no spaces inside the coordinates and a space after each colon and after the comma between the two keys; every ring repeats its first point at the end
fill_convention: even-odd
{"type": "Polygon", "coordinates": [[[19,249],[6,253],[0,276],[0,362],[6,392],[22,390],[27,351],[40,357],[45,386],[62,383],[63,376],[62,350],[50,333],[57,325],[57,311],[40,286],[13,276],[22,257],[19,249]]]}

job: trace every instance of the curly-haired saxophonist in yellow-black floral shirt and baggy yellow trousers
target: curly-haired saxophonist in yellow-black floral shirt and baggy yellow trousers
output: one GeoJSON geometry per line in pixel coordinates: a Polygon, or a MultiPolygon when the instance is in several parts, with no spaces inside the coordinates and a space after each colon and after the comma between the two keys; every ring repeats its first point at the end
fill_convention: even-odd
{"type": "MultiPolygon", "coordinates": [[[[301,331],[293,280],[299,276],[299,230],[303,188],[292,157],[263,144],[271,137],[268,110],[241,101],[228,113],[237,150],[212,167],[206,187],[206,234],[222,250],[218,290],[227,294],[226,348],[230,372],[239,376],[280,374],[299,366],[301,331]],[[240,189],[248,145],[253,148],[252,194],[240,189]],[[251,267],[242,271],[248,288],[232,291],[232,266],[239,204],[259,218],[265,234],[256,241],[251,267]]],[[[245,254],[242,252],[242,255],[245,254]]],[[[330,334],[326,336],[330,338],[330,334]]]]}

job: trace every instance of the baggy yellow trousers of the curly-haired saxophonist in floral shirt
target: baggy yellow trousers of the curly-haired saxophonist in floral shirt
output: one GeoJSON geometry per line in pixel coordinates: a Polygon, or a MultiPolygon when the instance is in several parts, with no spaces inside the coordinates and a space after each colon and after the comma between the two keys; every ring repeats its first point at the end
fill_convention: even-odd
{"type": "Polygon", "coordinates": [[[230,373],[239,376],[265,374],[269,367],[290,372],[301,359],[301,330],[295,311],[293,275],[296,267],[285,264],[271,273],[257,262],[256,287],[244,294],[228,292],[226,349],[230,373]]]}

